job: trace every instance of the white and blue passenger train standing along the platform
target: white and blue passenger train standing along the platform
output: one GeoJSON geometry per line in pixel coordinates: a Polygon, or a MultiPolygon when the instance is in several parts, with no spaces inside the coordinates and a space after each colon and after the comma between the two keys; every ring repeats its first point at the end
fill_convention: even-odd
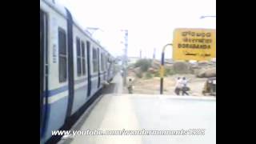
{"type": "Polygon", "coordinates": [[[70,10],[40,0],[40,143],[114,78],[114,56],[70,10]]]}

